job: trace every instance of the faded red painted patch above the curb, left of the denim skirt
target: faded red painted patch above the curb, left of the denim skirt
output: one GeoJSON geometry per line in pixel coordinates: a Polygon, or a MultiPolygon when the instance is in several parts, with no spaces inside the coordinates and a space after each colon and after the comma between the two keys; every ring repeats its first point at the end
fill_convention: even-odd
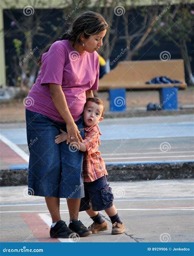
{"type": "Polygon", "coordinates": [[[5,164],[23,164],[27,163],[21,156],[19,156],[14,150],[11,150],[11,148],[2,142],[0,140],[0,148],[1,148],[1,159],[5,164]]]}

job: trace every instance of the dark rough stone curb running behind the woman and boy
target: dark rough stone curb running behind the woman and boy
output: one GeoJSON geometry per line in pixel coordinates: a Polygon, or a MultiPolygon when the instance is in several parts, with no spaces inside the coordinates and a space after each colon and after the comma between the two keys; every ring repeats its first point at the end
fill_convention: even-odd
{"type": "MultiPolygon", "coordinates": [[[[108,181],[194,178],[194,161],[178,163],[108,163],[108,181]]],[[[27,185],[28,169],[0,170],[0,186],[27,185]]]]}

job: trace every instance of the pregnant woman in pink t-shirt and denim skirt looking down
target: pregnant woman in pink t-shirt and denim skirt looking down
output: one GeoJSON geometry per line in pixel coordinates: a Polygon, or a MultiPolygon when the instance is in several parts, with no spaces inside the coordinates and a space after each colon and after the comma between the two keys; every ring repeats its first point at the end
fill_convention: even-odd
{"type": "Polygon", "coordinates": [[[72,231],[79,236],[91,233],[78,220],[84,197],[83,152],[66,143],[58,145],[54,139],[63,129],[68,132],[67,143],[82,142],[81,113],[86,98],[98,88],[96,50],[102,46],[107,28],[104,18],[93,11],[77,16],[61,39],[41,54],[41,72],[26,100],[29,194],[45,197],[52,217],[52,238],[68,238],[72,231]],[[29,144],[35,138],[36,142],[29,144]],[[67,199],[71,229],[61,220],[60,198],[67,199]]]}

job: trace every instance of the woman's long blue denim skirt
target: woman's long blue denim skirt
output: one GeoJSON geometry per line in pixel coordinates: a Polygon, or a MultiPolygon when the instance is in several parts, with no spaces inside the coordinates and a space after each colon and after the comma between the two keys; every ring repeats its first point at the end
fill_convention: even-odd
{"type": "MultiPolygon", "coordinates": [[[[83,118],[75,122],[84,138],[83,118]]],[[[59,129],[66,124],[26,109],[29,147],[28,194],[44,197],[84,197],[83,152],[65,142],[56,144],[59,129]]]]}

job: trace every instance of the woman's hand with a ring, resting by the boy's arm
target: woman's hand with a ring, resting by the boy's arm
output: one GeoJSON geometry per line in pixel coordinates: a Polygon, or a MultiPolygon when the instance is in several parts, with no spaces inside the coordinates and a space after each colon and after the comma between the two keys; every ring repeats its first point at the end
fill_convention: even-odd
{"type": "Polygon", "coordinates": [[[66,124],[66,128],[68,132],[67,144],[71,142],[76,142],[78,144],[79,144],[79,141],[83,142],[80,135],[80,131],[74,122],[68,122],[66,124]]]}

